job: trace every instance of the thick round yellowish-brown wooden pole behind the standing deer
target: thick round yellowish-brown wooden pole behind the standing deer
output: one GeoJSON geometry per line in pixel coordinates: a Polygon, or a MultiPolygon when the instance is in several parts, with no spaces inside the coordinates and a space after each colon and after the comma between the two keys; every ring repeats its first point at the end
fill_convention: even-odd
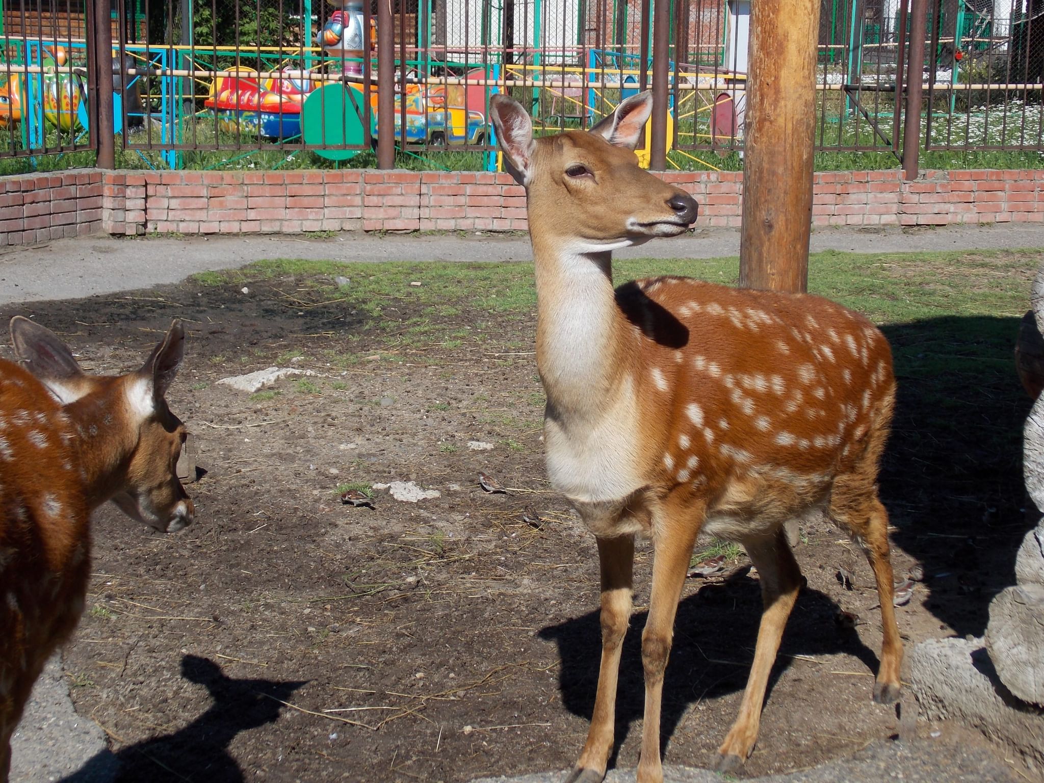
{"type": "Polygon", "coordinates": [[[820,0],[755,0],[746,79],[739,284],[805,291],[820,0]]]}

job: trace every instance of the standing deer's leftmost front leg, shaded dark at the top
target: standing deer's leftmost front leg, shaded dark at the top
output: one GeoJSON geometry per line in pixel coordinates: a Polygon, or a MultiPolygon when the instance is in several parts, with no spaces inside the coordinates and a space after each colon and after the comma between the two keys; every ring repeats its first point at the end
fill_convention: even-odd
{"type": "Polygon", "coordinates": [[[613,751],[616,723],[616,683],[620,651],[631,621],[635,540],[633,536],[598,540],[601,570],[601,666],[591,730],[576,767],[567,783],[598,783],[613,751]]]}

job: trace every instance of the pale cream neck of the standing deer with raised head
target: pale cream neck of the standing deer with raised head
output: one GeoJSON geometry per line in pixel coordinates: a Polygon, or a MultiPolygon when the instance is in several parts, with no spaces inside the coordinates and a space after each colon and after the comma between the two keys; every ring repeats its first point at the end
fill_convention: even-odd
{"type": "Polygon", "coordinates": [[[569,253],[535,238],[537,366],[552,409],[584,420],[619,387],[620,314],[611,253],[569,253]]]}

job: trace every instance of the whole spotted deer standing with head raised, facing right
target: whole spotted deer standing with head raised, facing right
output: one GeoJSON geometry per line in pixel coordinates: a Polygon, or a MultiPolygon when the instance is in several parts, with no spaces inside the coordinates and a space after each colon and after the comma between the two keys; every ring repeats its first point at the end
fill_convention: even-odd
{"type": "Polygon", "coordinates": [[[525,186],[537,278],[537,367],[554,488],[595,535],[602,654],[587,743],[569,783],[606,775],[620,650],[632,612],[634,537],[652,541],[642,634],[640,783],[663,780],[660,703],[674,614],[696,537],[740,542],[764,611],[739,716],[715,766],[754,750],[769,670],[802,586],[784,524],[825,509],[862,545],[884,641],[874,699],[899,695],[887,515],[877,472],[895,401],[892,354],[869,321],[816,296],[737,290],[687,278],[613,289],[612,251],[682,234],[696,204],[642,171],[632,151],[648,93],[589,133],[533,139],[507,96],[491,110],[525,186]]]}

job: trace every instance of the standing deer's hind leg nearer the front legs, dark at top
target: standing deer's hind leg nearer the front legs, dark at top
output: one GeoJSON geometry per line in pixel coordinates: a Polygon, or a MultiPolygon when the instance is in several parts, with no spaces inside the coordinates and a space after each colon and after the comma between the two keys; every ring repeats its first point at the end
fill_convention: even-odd
{"type": "Polygon", "coordinates": [[[758,569],[764,608],[754,649],[754,663],[739,706],[739,715],[718,749],[714,763],[714,768],[720,773],[738,769],[754,751],[761,726],[761,707],[765,701],[768,675],[776,662],[787,618],[802,586],[801,568],[790,551],[783,528],[764,538],[745,540],[743,546],[754,567],[758,569]]]}

